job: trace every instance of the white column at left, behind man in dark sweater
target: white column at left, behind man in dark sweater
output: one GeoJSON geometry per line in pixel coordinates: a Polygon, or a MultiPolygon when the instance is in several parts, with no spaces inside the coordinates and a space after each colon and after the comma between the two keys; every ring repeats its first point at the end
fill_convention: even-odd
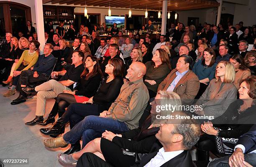
{"type": "Polygon", "coordinates": [[[36,29],[38,42],[40,42],[40,53],[44,53],[44,15],[43,15],[43,2],[42,0],[35,0],[36,7],[36,29]]]}

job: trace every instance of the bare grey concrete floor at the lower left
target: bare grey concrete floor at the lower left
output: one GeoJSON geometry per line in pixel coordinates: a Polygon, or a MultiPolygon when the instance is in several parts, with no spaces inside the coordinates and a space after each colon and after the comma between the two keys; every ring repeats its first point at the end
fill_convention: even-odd
{"type": "MultiPolygon", "coordinates": [[[[48,149],[43,141],[50,137],[39,132],[42,126],[24,124],[35,117],[36,99],[11,105],[10,102],[18,97],[18,92],[13,96],[3,97],[7,90],[7,87],[0,86],[0,159],[3,162],[6,158],[28,158],[28,164],[5,164],[5,167],[62,167],[57,154],[66,151],[69,146],[48,149]]],[[[53,99],[47,101],[44,117],[48,116],[53,104],[53,99]]],[[[68,131],[69,126],[65,132],[68,131]]]]}

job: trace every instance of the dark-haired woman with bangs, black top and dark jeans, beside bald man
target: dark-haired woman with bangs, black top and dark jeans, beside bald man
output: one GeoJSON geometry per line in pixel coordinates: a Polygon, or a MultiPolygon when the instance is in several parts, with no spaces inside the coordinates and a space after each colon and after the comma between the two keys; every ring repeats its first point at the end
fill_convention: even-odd
{"type": "MultiPolygon", "coordinates": [[[[90,57],[90,56],[88,56],[90,57]]],[[[108,76],[105,78],[99,91],[94,96],[91,96],[84,103],[73,103],[69,105],[67,111],[59,118],[59,120],[51,128],[40,129],[40,132],[52,137],[56,137],[64,133],[65,124],[69,121],[70,129],[72,129],[79,121],[88,115],[100,115],[104,110],[108,110],[111,104],[115,101],[120,93],[123,85],[124,66],[123,61],[118,58],[112,58],[106,65],[105,73],[108,76]]],[[[58,98],[57,98],[58,100],[58,98]]],[[[54,119],[54,117],[53,117],[54,119]]],[[[51,123],[48,121],[47,123],[51,123]]],[[[72,144],[71,148],[65,154],[71,154],[80,150],[79,141],[72,144]]]]}

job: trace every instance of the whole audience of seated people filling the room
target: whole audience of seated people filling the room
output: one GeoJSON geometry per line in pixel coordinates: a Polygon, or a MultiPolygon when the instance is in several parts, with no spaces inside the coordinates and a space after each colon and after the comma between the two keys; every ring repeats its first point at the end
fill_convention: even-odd
{"type": "MultiPolygon", "coordinates": [[[[112,33],[118,34],[119,40],[99,40],[97,26],[90,35],[81,25],[79,37],[75,37],[71,25],[74,32],[68,32],[68,38],[74,43],[69,47],[63,25],[54,33],[49,23],[40,55],[37,34],[31,22],[27,25],[26,35],[31,40],[21,33],[19,40],[6,33],[1,46],[0,80],[3,86],[10,84],[3,96],[18,91],[18,98],[11,101],[16,105],[26,102],[31,94],[37,95],[35,118],[25,124],[52,124],[39,130],[51,137],[44,141],[46,147],[71,144],[58,154],[60,162],[77,163],[78,167],[200,167],[209,163],[210,151],[222,156],[210,162],[211,166],[242,166],[247,163],[244,160],[256,165],[244,158],[254,148],[247,147],[244,138],[255,141],[256,135],[255,47],[248,51],[256,42],[256,28],[237,24],[225,31],[221,24],[206,23],[197,36],[195,26],[179,23],[177,29],[171,24],[167,35],[157,34],[151,40],[150,34],[145,39],[139,35],[133,38],[133,33],[123,37],[115,24],[112,33]],[[55,99],[55,103],[44,119],[46,99],[55,99]],[[201,127],[191,120],[152,123],[159,99],[169,100],[168,104],[203,106],[193,114],[214,119],[205,120],[201,127]],[[58,137],[68,122],[70,131],[58,137]],[[232,144],[227,145],[230,140],[232,144]],[[188,151],[193,146],[197,148],[196,163],[188,151]],[[228,154],[233,155],[224,157],[228,154]]],[[[149,20],[146,29],[151,28],[149,20]]]]}

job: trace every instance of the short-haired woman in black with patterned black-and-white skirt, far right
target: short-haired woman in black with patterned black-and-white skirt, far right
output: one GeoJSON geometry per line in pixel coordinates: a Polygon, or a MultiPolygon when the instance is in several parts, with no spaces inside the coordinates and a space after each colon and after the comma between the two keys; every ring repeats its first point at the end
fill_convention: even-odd
{"type": "Polygon", "coordinates": [[[235,139],[248,132],[255,123],[255,82],[256,76],[249,76],[243,79],[238,90],[239,99],[231,103],[223,115],[213,119],[212,122],[201,124],[202,132],[205,132],[205,135],[200,138],[197,151],[198,157],[204,157],[206,159],[200,160],[209,160],[209,157],[205,155],[209,155],[207,152],[211,150],[224,154],[232,154],[236,145],[235,139]],[[223,137],[229,139],[229,144],[225,146],[225,149],[223,146],[223,137]],[[220,147],[215,147],[215,142],[220,147]]]}

